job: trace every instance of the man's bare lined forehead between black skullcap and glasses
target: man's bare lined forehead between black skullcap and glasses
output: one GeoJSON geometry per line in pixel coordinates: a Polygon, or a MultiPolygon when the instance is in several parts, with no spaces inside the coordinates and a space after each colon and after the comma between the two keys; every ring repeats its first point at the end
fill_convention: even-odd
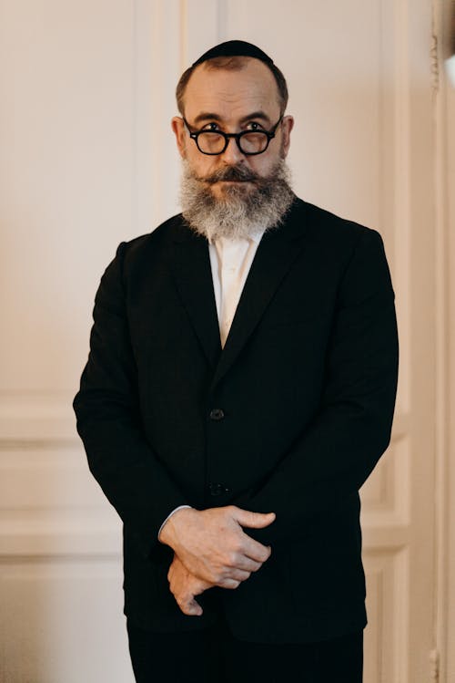
{"type": "Polygon", "coordinates": [[[264,111],[270,119],[279,116],[276,80],[265,64],[253,58],[239,69],[201,64],[187,83],[184,103],[188,120],[201,112],[226,120],[240,119],[254,111],[264,111]]]}

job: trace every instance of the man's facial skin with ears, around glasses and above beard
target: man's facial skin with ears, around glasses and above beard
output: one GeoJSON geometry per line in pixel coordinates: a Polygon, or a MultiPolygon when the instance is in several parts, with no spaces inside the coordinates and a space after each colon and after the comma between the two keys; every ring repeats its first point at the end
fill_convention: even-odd
{"type": "MultiPolygon", "coordinates": [[[[280,116],[278,88],[273,74],[258,59],[250,58],[240,70],[210,69],[206,64],[197,67],[188,81],[185,92],[185,118],[191,130],[219,129],[237,133],[249,129],[272,129],[280,116]]],[[[286,116],[276,129],[275,138],[262,154],[248,156],[230,139],[227,149],[216,156],[202,154],[188,135],[183,119],[172,119],[177,148],[181,157],[198,178],[204,179],[227,167],[241,167],[261,178],[276,169],[280,159],[288,154],[289,136],[294,121],[286,116]]],[[[241,182],[244,191],[253,189],[251,181],[210,182],[210,191],[223,197],[229,187],[241,182]]]]}

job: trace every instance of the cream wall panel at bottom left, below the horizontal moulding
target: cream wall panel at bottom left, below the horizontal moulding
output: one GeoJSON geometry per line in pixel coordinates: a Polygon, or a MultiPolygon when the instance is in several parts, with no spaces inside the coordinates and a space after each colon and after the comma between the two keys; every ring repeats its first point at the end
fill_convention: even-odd
{"type": "Polygon", "coordinates": [[[3,683],[132,683],[119,576],[96,555],[0,563],[3,683]]]}

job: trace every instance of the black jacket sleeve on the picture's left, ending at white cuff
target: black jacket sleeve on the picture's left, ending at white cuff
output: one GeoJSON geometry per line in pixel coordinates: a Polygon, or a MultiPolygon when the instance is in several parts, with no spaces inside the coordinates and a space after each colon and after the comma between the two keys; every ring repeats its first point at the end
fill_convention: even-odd
{"type": "Polygon", "coordinates": [[[118,247],[96,293],[90,354],[74,400],[90,471],[146,556],[167,514],[187,500],[147,442],[140,424],[137,368],[126,315],[118,247]]]}

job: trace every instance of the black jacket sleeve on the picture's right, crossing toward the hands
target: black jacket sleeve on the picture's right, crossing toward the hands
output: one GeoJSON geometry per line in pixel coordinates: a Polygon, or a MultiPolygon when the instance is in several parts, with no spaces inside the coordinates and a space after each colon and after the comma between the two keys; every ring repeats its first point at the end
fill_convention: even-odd
{"type": "Polygon", "coordinates": [[[339,285],[318,413],[268,480],[236,501],[276,512],[268,528],[247,530],[261,543],[301,536],[322,515],[356,504],[387,449],[398,380],[394,298],[382,239],[365,231],[339,285]]]}

